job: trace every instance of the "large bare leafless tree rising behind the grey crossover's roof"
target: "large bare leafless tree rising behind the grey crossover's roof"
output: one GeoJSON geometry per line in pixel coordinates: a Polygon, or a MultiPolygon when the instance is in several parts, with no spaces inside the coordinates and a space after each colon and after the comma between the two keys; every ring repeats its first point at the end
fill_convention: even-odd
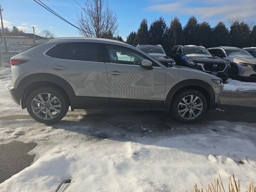
{"type": "Polygon", "coordinates": [[[107,0],[85,0],[77,22],[80,34],[85,37],[112,38],[118,33],[116,12],[107,0]]]}

